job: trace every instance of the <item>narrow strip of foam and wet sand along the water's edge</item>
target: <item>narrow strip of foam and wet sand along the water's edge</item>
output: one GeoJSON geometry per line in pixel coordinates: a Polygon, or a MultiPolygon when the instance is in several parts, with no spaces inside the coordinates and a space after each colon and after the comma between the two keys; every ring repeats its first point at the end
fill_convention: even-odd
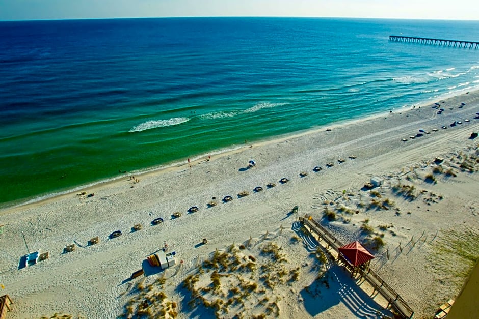
{"type": "MultiPolygon", "coordinates": [[[[445,94],[443,96],[438,96],[436,99],[430,99],[430,100],[428,99],[428,100],[417,102],[416,104],[413,104],[413,106],[414,107],[415,106],[421,107],[421,106],[433,105],[436,102],[451,99],[451,98],[455,98],[455,97],[459,97],[459,96],[467,97],[468,94],[474,95],[474,94],[479,93],[479,88],[476,88],[474,91],[467,91],[467,94],[466,94],[466,91],[467,91],[467,88],[465,90],[462,90],[462,93],[454,92],[454,93],[445,94]]],[[[400,106],[400,107],[393,107],[393,108],[391,108],[391,110],[393,111],[393,113],[395,113],[395,112],[401,112],[402,113],[402,112],[413,111],[414,108],[410,108],[407,105],[404,105],[404,106],[400,106]]],[[[224,151],[223,150],[212,150],[209,154],[205,153],[205,154],[201,154],[201,155],[196,156],[191,161],[191,165],[197,165],[197,164],[205,161],[204,158],[207,157],[208,155],[213,155],[212,157],[220,158],[220,157],[224,157],[224,156],[228,156],[228,155],[241,153],[244,149],[250,148],[249,145],[251,145],[253,143],[254,143],[255,147],[265,146],[265,145],[272,144],[272,143],[282,142],[282,141],[287,140],[287,139],[292,139],[292,138],[297,138],[297,137],[300,137],[300,136],[315,134],[315,133],[321,132],[326,127],[328,127],[328,128],[345,127],[345,126],[352,125],[352,124],[371,121],[371,120],[380,118],[382,116],[387,117],[387,115],[389,115],[389,114],[390,113],[388,111],[378,111],[378,112],[366,114],[362,117],[360,116],[358,118],[351,119],[351,120],[346,120],[346,121],[341,121],[341,122],[332,122],[330,124],[322,125],[320,127],[313,127],[313,128],[303,130],[303,131],[286,133],[284,135],[272,136],[270,138],[261,139],[259,141],[253,141],[252,143],[248,142],[246,146],[237,146],[237,147],[232,146],[231,149],[226,149],[224,151]]],[[[158,174],[161,174],[161,173],[164,173],[164,172],[168,172],[168,171],[173,171],[177,168],[179,169],[180,167],[182,167],[184,165],[188,165],[188,162],[185,163],[184,161],[174,161],[172,163],[165,163],[165,164],[159,165],[157,167],[144,168],[144,169],[139,169],[137,171],[126,172],[126,174],[127,174],[127,176],[136,176],[138,178],[145,178],[145,177],[149,177],[149,176],[155,176],[155,175],[158,175],[158,174]]],[[[77,193],[77,192],[86,191],[88,193],[94,193],[95,190],[101,189],[102,187],[108,187],[108,186],[111,186],[111,185],[120,184],[121,182],[124,182],[124,178],[125,177],[122,177],[122,176],[112,177],[112,178],[107,179],[107,180],[101,180],[101,181],[93,182],[93,183],[90,183],[90,184],[87,184],[87,185],[79,185],[79,186],[76,186],[76,187],[72,187],[72,188],[69,188],[65,191],[56,192],[56,193],[53,193],[53,194],[45,194],[45,195],[42,195],[42,196],[37,196],[37,197],[31,198],[31,199],[28,199],[28,200],[25,200],[25,201],[22,201],[22,199],[19,199],[18,201],[21,201],[21,202],[19,202],[18,204],[13,204],[12,206],[7,206],[5,208],[0,209],[0,216],[2,216],[4,214],[9,214],[11,212],[15,212],[19,209],[35,207],[36,205],[40,205],[42,203],[55,201],[55,200],[67,197],[67,196],[69,196],[71,194],[74,194],[74,193],[77,193]]]]}

